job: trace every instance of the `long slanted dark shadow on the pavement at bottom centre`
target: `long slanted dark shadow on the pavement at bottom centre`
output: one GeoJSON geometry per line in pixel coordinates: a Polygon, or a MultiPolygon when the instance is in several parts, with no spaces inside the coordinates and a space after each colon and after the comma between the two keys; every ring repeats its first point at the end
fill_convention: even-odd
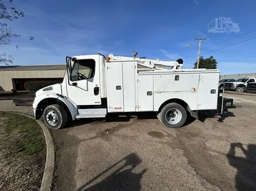
{"type": "Polygon", "coordinates": [[[141,173],[134,173],[133,169],[138,166],[142,160],[137,154],[132,153],[123,159],[108,167],[102,173],[98,174],[93,179],[89,180],[85,185],[81,186],[77,191],[100,191],[100,190],[115,190],[115,191],[131,191],[141,190],[140,180],[146,169],[141,173]],[[124,164],[123,164],[124,163],[124,164]],[[123,164],[123,165],[122,165],[123,164]],[[101,176],[112,172],[105,179],[100,180],[101,176]]]}

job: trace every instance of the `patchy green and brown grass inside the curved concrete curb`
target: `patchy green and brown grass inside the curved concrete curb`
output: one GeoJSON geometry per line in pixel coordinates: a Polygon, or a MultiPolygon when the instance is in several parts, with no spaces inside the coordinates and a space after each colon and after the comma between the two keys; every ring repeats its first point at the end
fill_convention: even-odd
{"type": "Polygon", "coordinates": [[[0,190],[39,190],[45,157],[39,124],[26,116],[0,112],[0,190]]]}

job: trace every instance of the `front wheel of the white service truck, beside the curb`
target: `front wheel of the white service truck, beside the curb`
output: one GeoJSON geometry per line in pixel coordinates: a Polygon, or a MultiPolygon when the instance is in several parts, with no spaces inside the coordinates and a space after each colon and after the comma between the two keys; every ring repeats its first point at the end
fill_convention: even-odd
{"type": "Polygon", "coordinates": [[[44,122],[50,129],[60,129],[66,125],[68,117],[63,107],[58,104],[49,105],[44,109],[44,122]],[[47,117],[48,116],[48,117],[47,117]],[[49,119],[51,117],[51,119],[49,119]],[[54,117],[54,123],[52,117],[54,117]],[[52,121],[51,121],[52,120],[52,121]],[[52,123],[52,124],[51,124],[52,123]]]}

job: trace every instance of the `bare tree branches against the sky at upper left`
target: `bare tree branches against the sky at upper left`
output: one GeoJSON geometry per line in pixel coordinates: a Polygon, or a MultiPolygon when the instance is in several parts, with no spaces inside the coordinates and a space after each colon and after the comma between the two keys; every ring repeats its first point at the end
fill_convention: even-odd
{"type": "MultiPolygon", "coordinates": [[[[2,20],[17,20],[20,17],[24,17],[24,12],[20,11],[14,4],[13,0],[0,0],[0,19],[2,20]]],[[[17,34],[13,32],[5,22],[0,22],[0,46],[14,45],[11,43],[11,39],[14,37],[28,37],[26,35],[17,34]]],[[[34,37],[28,37],[29,40],[33,40],[34,37]]],[[[14,45],[17,49],[18,45],[14,45]]],[[[4,52],[0,53],[0,65],[10,65],[13,63],[13,57],[6,55],[4,52]]]]}

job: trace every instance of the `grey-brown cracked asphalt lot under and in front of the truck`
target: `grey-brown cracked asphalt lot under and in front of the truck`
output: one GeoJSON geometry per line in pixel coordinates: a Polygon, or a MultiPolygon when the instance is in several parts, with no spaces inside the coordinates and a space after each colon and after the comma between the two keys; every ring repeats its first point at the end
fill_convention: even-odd
{"type": "Polygon", "coordinates": [[[223,120],[168,129],[152,115],[52,131],[54,190],[255,190],[256,100],[226,95],[237,108],[223,120]]]}

